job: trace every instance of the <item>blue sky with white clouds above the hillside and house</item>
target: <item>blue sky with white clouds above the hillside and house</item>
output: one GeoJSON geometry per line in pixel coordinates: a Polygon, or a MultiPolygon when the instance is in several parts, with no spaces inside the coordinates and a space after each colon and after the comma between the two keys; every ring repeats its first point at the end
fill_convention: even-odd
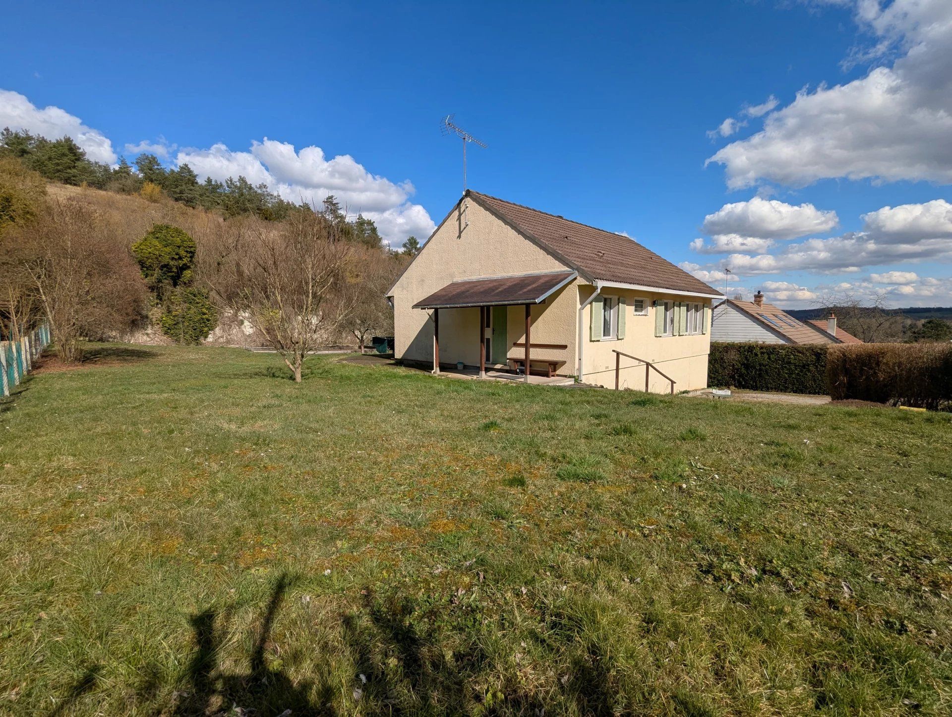
{"type": "Polygon", "coordinates": [[[624,231],[719,288],[729,266],[730,294],[952,304],[947,0],[33,2],[5,20],[0,125],[105,161],[145,148],[329,191],[399,244],[462,190],[438,126],[455,112],[489,146],[471,188],[624,231]]]}

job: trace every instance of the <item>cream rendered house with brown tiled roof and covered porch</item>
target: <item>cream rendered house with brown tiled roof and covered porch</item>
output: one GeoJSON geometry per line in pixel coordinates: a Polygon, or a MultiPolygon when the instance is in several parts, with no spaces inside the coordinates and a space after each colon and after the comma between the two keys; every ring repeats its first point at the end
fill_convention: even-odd
{"type": "Polygon", "coordinates": [[[707,386],[722,298],[624,235],[472,190],[387,296],[407,364],[525,375],[527,362],[609,388],[617,369],[619,388],[656,392],[707,386]]]}

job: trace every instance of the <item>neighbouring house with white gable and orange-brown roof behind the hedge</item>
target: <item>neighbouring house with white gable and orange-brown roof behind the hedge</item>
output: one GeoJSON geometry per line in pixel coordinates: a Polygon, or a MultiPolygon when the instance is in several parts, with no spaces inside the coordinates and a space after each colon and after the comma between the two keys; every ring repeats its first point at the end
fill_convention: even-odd
{"type": "Polygon", "coordinates": [[[803,322],[783,309],[764,304],[758,291],[753,301],[726,299],[714,307],[711,341],[760,344],[862,344],[836,325],[836,315],[803,322]]]}

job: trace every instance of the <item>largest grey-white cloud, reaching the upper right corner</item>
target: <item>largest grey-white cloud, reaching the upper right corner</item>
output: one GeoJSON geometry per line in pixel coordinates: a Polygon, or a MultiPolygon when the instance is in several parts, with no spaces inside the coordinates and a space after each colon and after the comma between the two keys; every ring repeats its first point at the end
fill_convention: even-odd
{"type": "Polygon", "coordinates": [[[952,2],[857,0],[856,16],[876,42],[854,60],[899,58],[768,111],[764,129],[707,160],[724,165],[729,188],[832,177],[952,182],[952,2]]]}

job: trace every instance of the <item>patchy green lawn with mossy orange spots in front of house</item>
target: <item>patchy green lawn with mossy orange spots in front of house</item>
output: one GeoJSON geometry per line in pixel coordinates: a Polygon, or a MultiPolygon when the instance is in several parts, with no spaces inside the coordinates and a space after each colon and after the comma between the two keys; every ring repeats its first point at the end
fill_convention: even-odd
{"type": "Polygon", "coordinates": [[[92,357],[0,404],[0,713],[952,711],[947,414],[92,357]]]}

